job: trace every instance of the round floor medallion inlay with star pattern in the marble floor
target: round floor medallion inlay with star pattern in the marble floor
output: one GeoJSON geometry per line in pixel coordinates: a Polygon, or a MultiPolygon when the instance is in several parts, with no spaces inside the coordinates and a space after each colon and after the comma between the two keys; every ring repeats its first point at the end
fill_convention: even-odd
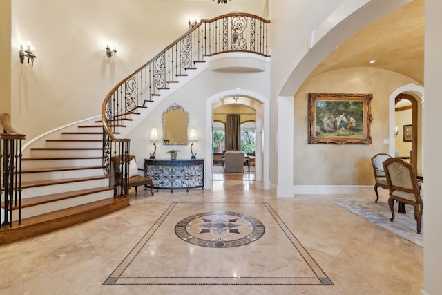
{"type": "Polygon", "coordinates": [[[247,245],[265,232],[262,223],[236,212],[206,212],[184,218],[175,226],[175,234],[193,245],[227,248],[247,245]]]}

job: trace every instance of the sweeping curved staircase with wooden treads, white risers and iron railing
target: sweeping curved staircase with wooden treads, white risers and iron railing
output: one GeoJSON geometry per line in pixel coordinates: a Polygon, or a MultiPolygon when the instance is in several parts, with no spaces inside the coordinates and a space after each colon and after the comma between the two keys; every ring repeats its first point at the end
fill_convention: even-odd
{"type": "Polygon", "coordinates": [[[158,104],[160,93],[170,95],[173,85],[204,63],[204,56],[231,51],[267,56],[267,23],[248,14],[202,20],[119,82],[104,99],[101,120],[68,126],[32,142],[23,158],[17,155],[20,202],[7,206],[2,195],[0,245],[128,207],[130,198],[122,186],[111,187],[109,166],[111,156],[130,153],[131,140],[120,137],[128,133],[124,129],[148,113],[147,104],[158,104]]]}

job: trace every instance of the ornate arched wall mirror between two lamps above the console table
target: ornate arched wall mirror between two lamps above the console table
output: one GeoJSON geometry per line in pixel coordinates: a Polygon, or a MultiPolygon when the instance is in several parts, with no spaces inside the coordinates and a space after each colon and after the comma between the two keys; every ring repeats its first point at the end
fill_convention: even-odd
{"type": "Polygon", "coordinates": [[[187,144],[187,125],[189,113],[184,108],[173,103],[162,114],[163,143],[187,144]]]}

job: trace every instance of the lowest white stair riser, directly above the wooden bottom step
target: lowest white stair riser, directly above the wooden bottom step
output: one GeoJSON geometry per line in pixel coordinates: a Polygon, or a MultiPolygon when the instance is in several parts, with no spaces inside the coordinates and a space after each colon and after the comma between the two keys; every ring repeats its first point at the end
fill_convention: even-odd
{"type": "MultiPolygon", "coordinates": [[[[101,191],[99,193],[91,193],[85,196],[79,196],[75,198],[68,198],[65,200],[58,200],[55,202],[48,202],[45,204],[39,204],[36,206],[25,207],[21,209],[21,219],[38,216],[44,213],[58,211],[70,207],[75,207],[81,204],[104,200],[107,198],[113,198],[113,191],[101,191]]],[[[12,211],[12,221],[19,220],[19,211],[12,211]]]]}

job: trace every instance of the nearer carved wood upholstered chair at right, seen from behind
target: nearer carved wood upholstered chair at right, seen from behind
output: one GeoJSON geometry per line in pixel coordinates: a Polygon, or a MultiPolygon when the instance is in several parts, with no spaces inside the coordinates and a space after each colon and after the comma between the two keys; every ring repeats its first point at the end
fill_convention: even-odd
{"type": "Polygon", "coordinates": [[[423,212],[423,200],[419,187],[416,170],[412,164],[400,158],[389,158],[383,162],[387,186],[390,191],[388,206],[392,211],[391,221],[394,220],[394,200],[403,204],[414,206],[414,218],[417,221],[417,233],[421,234],[421,220],[423,212]]]}

